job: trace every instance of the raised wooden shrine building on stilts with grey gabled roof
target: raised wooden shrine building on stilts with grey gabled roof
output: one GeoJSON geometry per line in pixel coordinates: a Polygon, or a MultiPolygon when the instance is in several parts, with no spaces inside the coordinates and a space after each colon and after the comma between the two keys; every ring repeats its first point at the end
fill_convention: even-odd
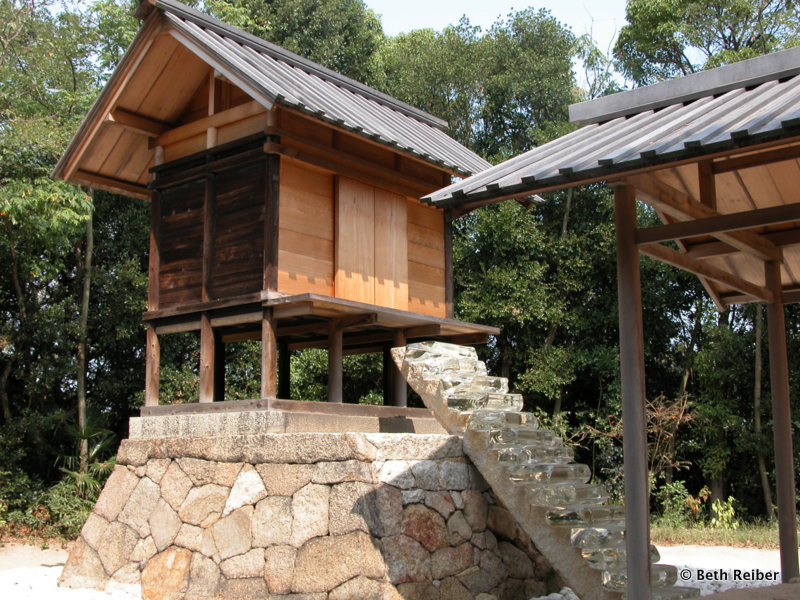
{"type": "Polygon", "coordinates": [[[147,406],[172,333],[200,334],[200,402],[245,339],[262,398],[289,398],[289,352],[320,347],[341,402],[345,353],[497,331],[453,319],[450,214],[418,200],[489,166],[446,123],[177,0],[137,16],[54,176],[151,202],[147,406]]]}

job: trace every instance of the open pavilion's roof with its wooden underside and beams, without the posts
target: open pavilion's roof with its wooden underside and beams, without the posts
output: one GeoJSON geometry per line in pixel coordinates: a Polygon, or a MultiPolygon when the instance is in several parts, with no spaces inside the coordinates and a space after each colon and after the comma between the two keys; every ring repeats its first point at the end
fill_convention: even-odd
{"type": "MultiPolygon", "coordinates": [[[[769,300],[765,260],[782,260],[784,300],[800,300],[800,48],[778,58],[780,78],[756,85],[759,69],[775,71],[770,57],[732,65],[747,76],[743,84],[685,101],[659,105],[660,94],[680,87],[674,82],[600,99],[581,114],[602,119],[602,110],[640,101],[657,107],[586,125],[424,200],[463,213],[595,181],[628,184],[665,223],[637,232],[640,251],[700,275],[718,305],[769,300]],[[661,244],[669,240],[681,256],[661,244]]],[[[693,81],[718,83],[731,67],[693,81]]]]}

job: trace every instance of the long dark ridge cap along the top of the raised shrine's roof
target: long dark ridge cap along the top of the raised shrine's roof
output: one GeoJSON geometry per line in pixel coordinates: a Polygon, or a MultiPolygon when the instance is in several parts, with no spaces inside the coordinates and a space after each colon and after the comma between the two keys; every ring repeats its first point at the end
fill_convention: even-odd
{"type": "Polygon", "coordinates": [[[347,89],[355,94],[359,94],[360,96],[369,98],[370,100],[378,102],[379,104],[383,104],[392,110],[396,110],[407,117],[411,117],[412,119],[426,123],[431,127],[445,129],[448,126],[447,121],[443,119],[426,113],[423,110],[411,106],[410,104],[406,104],[397,98],[393,98],[388,94],[384,94],[383,92],[358,82],[355,79],[351,79],[345,75],[342,75],[341,73],[337,73],[336,71],[328,69],[327,67],[323,67],[318,63],[295,54],[294,52],[290,52],[285,48],[281,48],[276,44],[262,40],[261,38],[236,27],[232,27],[220,21],[219,19],[215,19],[214,17],[202,13],[195,8],[179,2],[178,0],[155,0],[155,5],[156,8],[160,8],[161,10],[170,12],[180,18],[192,21],[198,26],[211,29],[222,36],[250,46],[255,50],[269,54],[277,60],[281,60],[286,64],[302,69],[303,71],[306,71],[312,75],[316,75],[317,77],[320,77],[326,81],[330,81],[331,83],[347,89]]]}

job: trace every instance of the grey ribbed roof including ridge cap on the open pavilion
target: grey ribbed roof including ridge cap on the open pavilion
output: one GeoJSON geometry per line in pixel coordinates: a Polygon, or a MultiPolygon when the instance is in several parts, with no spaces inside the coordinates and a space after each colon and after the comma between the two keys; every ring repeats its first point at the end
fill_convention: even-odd
{"type": "Polygon", "coordinates": [[[588,125],[425,197],[472,207],[800,135],[800,48],[570,107],[588,125]]]}

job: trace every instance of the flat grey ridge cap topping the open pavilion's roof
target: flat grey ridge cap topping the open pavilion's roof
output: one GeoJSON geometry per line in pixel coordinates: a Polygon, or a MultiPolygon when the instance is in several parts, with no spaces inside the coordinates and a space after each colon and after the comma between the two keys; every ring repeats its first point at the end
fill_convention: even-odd
{"type": "Polygon", "coordinates": [[[569,119],[579,125],[600,123],[645,110],[758,85],[765,81],[791,77],[798,73],[800,73],[800,47],[789,48],[627,92],[572,104],[569,107],[569,119]]]}

